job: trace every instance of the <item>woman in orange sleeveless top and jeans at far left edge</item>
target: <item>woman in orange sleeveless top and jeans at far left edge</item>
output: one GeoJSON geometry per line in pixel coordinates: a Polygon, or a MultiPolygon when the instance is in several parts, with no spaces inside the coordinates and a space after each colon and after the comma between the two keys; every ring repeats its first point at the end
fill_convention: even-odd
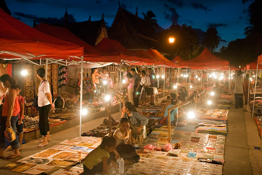
{"type": "MultiPolygon", "coordinates": [[[[2,86],[7,88],[6,93],[2,97],[2,117],[0,122],[0,158],[3,158],[3,150],[5,148],[5,135],[4,131],[6,128],[12,127],[15,131],[16,122],[18,121],[18,113],[20,112],[20,105],[17,100],[16,93],[16,82],[13,78],[8,74],[4,74],[0,77],[0,81],[2,82],[2,86]]],[[[7,156],[7,159],[13,159],[15,157],[19,157],[19,148],[20,143],[18,138],[15,137],[15,140],[11,143],[12,149],[14,149],[14,153],[7,156]]]]}

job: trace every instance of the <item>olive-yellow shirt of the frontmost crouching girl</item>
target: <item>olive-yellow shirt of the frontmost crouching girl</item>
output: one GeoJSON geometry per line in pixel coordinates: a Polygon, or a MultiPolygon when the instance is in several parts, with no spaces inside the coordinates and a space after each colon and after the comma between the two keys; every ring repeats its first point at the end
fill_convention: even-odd
{"type": "Polygon", "coordinates": [[[92,169],[95,165],[98,165],[103,161],[103,157],[109,158],[110,155],[107,150],[101,149],[100,145],[91,151],[81,162],[88,168],[92,169]]]}

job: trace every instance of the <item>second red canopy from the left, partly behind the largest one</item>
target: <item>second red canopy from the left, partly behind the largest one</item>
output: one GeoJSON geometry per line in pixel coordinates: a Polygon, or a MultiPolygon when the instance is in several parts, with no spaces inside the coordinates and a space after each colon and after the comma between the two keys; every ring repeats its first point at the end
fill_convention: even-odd
{"type": "Polygon", "coordinates": [[[62,27],[50,26],[44,23],[34,27],[36,30],[48,34],[52,37],[61,39],[63,41],[68,41],[80,46],[84,46],[84,61],[90,62],[112,62],[112,58],[115,62],[120,62],[120,56],[110,54],[101,50],[97,50],[95,47],[84,42],[76,35],[72,34],[68,29],[62,27]]]}

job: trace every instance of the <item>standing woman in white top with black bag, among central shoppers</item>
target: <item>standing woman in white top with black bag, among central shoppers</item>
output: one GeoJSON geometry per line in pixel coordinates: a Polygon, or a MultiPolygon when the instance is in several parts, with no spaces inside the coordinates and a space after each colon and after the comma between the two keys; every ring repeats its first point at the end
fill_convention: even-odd
{"type": "Polygon", "coordinates": [[[145,70],[141,71],[141,82],[140,84],[143,86],[141,89],[141,94],[140,94],[140,100],[144,102],[144,104],[142,106],[150,106],[150,95],[146,95],[145,92],[145,88],[146,87],[150,87],[151,83],[150,83],[150,77],[146,76],[145,74],[145,70]],[[148,105],[146,105],[146,103],[148,103],[148,105]]]}

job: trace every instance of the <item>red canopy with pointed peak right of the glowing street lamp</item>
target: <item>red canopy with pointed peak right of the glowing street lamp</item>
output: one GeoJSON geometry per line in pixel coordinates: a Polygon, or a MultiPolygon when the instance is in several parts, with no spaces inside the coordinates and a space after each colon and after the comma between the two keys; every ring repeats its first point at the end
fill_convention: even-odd
{"type": "Polygon", "coordinates": [[[196,58],[182,61],[181,66],[187,66],[191,69],[216,69],[220,66],[229,66],[229,62],[216,57],[206,47],[196,58]]]}

